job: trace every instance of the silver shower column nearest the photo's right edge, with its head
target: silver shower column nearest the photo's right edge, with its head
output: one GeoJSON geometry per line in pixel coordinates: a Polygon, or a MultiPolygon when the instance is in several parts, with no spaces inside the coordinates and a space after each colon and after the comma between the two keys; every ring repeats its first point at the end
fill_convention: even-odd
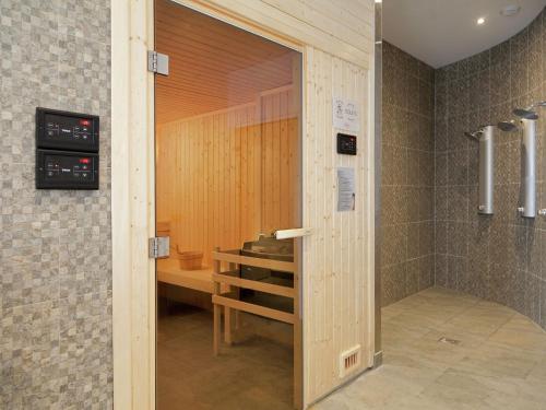
{"type": "MultiPolygon", "coordinates": [[[[538,115],[532,109],[534,106],[543,106],[544,103],[537,103],[531,108],[517,108],[513,110],[515,115],[522,117],[520,120],[522,129],[521,139],[521,185],[522,198],[518,211],[524,218],[536,216],[536,119],[538,115]],[[527,118],[529,117],[529,118],[527,118]]],[[[502,121],[498,124],[499,129],[506,132],[512,132],[520,129],[514,120],[502,121]]]]}

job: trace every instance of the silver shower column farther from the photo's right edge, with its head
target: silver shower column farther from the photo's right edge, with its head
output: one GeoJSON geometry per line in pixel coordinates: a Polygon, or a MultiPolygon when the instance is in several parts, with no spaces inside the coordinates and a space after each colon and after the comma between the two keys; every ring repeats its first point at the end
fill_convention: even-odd
{"type": "Polygon", "coordinates": [[[483,126],[477,131],[464,134],[479,143],[479,192],[478,213],[491,215],[494,213],[495,187],[495,138],[494,126],[483,126]]]}

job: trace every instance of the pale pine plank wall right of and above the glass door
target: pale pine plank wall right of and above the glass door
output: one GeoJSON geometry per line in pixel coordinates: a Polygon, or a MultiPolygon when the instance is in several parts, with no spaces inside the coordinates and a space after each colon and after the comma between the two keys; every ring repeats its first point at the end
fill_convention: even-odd
{"type": "Polygon", "coordinates": [[[361,368],[373,352],[373,22],[371,0],[176,0],[258,33],[281,35],[305,54],[306,134],[302,155],[305,402],[332,391],[340,378],[340,354],[361,345],[361,368]],[[244,24],[244,25],[245,25],[244,24]],[[340,69],[343,77],[335,77],[340,69]],[[361,103],[357,157],[334,153],[331,104],[334,96],[361,103]],[[368,104],[369,102],[369,104],[368,104]],[[372,117],[371,117],[372,118],[372,117]],[[355,166],[357,210],[335,212],[335,166],[355,166]]]}

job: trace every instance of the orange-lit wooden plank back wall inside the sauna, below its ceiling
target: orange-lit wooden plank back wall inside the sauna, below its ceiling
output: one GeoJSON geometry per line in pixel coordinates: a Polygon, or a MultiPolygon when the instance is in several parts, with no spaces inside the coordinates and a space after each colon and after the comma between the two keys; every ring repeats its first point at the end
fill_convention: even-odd
{"type": "Polygon", "coordinates": [[[215,246],[296,226],[297,143],[290,87],[158,125],[156,212],[171,224],[173,250],[202,250],[210,265],[215,246]]]}

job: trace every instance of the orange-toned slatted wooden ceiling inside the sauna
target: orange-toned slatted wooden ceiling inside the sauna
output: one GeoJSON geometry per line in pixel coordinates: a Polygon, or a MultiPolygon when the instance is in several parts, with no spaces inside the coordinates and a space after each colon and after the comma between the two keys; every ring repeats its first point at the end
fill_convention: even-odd
{"type": "Polygon", "coordinates": [[[156,50],[170,59],[156,79],[156,122],[252,102],[292,83],[293,50],[168,0],[156,1],[156,50]]]}

